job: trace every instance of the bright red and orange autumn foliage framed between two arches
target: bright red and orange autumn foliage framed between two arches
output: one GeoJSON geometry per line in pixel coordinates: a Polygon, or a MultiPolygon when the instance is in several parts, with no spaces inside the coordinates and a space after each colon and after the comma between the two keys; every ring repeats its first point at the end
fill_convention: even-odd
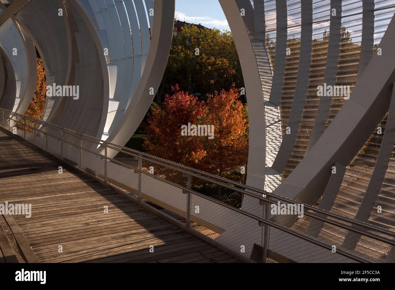
{"type": "Polygon", "coordinates": [[[152,105],[144,124],[150,137],[144,147],[155,156],[226,176],[226,172],[245,166],[248,150],[248,124],[240,90],[233,86],[209,95],[207,103],[188,92],[172,87],[161,107],[152,105]],[[214,137],[182,136],[182,125],[214,126],[214,137]]]}

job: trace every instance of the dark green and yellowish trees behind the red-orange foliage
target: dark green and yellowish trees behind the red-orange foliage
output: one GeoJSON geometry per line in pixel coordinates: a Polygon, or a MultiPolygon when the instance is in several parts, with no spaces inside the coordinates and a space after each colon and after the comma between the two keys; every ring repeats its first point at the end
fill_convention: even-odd
{"type": "Polygon", "coordinates": [[[230,31],[199,29],[185,25],[173,37],[169,60],[157,102],[170,92],[170,84],[182,84],[182,90],[202,96],[229,88],[243,87],[239,57],[230,31]],[[196,55],[199,49],[199,55],[196,55]]]}

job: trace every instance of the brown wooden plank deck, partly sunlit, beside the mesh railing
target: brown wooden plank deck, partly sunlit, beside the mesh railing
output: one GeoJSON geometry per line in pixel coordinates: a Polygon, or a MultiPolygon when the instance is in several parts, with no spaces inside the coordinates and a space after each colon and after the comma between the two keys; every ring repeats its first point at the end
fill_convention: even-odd
{"type": "Polygon", "coordinates": [[[32,216],[0,215],[0,262],[239,262],[0,128],[6,202],[32,216]]]}

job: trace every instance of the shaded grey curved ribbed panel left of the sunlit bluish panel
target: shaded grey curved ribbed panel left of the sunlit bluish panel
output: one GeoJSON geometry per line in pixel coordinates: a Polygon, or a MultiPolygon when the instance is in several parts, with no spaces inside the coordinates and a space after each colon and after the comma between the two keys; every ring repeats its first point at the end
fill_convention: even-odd
{"type": "Polygon", "coordinates": [[[68,25],[71,29],[73,70],[69,85],[79,86],[79,98],[66,97],[56,123],[87,135],[101,137],[103,110],[108,99],[104,95],[104,78],[100,52],[94,37],[74,5],[68,6],[68,25]],[[75,118],[70,118],[74,112],[75,118]],[[100,130],[101,128],[101,130],[100,130]]]}

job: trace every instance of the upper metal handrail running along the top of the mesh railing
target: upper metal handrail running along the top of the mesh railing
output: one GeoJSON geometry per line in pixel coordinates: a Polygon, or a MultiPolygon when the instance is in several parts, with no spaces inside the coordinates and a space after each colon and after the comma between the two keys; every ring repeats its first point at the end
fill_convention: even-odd
{"type": "MultiPolygon", "coordinates": [[[[58,131],[62,131],[62,132],[67,133],[69,135],[73,135],[74,137],[83,138],[84,140],[90,141],[90,142],[98,144],[100,146],[105,146],[105,147],[113,149],[113,150],[122,151],[122,153],[126,153],[127,155],[130,155],[130,156],[133,156],[133,157],[136,157],[136,158],[139,158],[139,159],[151,161],[153,163],[165,166],[167,168],[171,168],[173,170],[178,170],[178,171],[180,171],[183,174],[190,174],[190,175],[192,175],[194,177],[203,179],[205,181],[214,183],[216,185],[220,185],[222,187],[231,189],[233,191],[237,191],[238,193],[241,193],[241,194],[244,194],[244,195],[248,195],[248,196],[251,196],[251,197],[254,197],[254,198],[258,198],[259,200],[262,200],[264,202],[269,202],[271,204],[277,204],[277,202],[275,200],[271,199],[271,198],[273,198],[273,199],[281,200],[281,201],[287,202],[287,203],[301,204],[301,202],[299,202],[297,200],[293,200],[291,198],[275,195],[275,194],[269,193],[269,192],[267,192],[265,190],[257,189],[255,187],[251,187],[251,186],[248,186],[248,185],[245,185],[245,184],[242,184],[242,183],[237,183],[235,181],[228,180],[228,179],[222,178],[220,176],[215,176],[213,174],[210,174],[210,173],[207,173],[207,172],[203,172],[201,170],[198,170],[198,169],[195,169],[195,168],[192,168],[192,167],[187,167],[185,165],[181,165],[181,164],[175,163],[173,161],[168,161],[166,159],[162,159],[162,158],[159,158],[159,157],[147,154],[147,153],[143,153],[143,152],[139,152],[137,150],[126,148],[126,147],[120,146],[118,144],[114,144],[114,143],[111,143],[111,142],[108,142],[108,141],[105,141],[105,140],[101,140],[101,139],[98,139],[98,138],[95,138],[95,137],[91,137],[91,136],[88,136],[88,135],[85,135],[85,134],[77,133],[77,132],[75,132],[73,130],[70,130],[70,129],[61,128],[61,127],[58,127],[56,125],[49,124],[47,122],[44,122],[44,121],[41,121],[41,120],[37,120],[37,119],[34,119],[32,117],[29,117],[29,116],[25,116],[25,115],[22,115],[22,114],[19,114],[19,113],[16,113],[16,112],[12,112],[10,110],[6,110],[6,109],[2,109],[2,108],[0,108],[0,109],[3,110],[3,111],[9,112],[9,114],[11,114],[11,115],[19,116],[19,117],[25,118],[25,119],[27,118],[30,121],[34,121],[34,123],[40,123],[41,125],[44,125],[44,126],[47,126],[47,127],[51,127],[52,129],[56,129],[58,131]],[[135,153],[132,153],[132,152],[129,152],[129,151],[132,151],[132,152],[135,152],[135,153]],[[144,157],[144,156],[148,156],[149,158],[148,157],[144,157]],[[156,161],[154,161],[152,159],[155,159],[156,161]],[[171,165],[164,164],[164,163],[169,163],[171,165]],[[181,169],[180,167],[183,168],[183,169],[181,169]],[[196,173],[193,173],[193,172],[196,172],[196,173]],[[216,179],[218,179],[220,181],[213,180],[211,178],[207,178],[206,176],[202,176],[201,174],[210,176],[212,178],[216,178],[216,179]],[[230,183],[230,184],[232,184],[232,185],[234,185],[236,187],[232,187],[232,186],[228,185],[227,183],[230,183]],[[238,187],[242,187],[243,189],[238,188],[238,187]],[[250,191],[246,191],[246,189],[250,190],[250,191],[255,191],[256,193],[250,192],[250,191]],[[267,198],[267,197],[270,197],[270,198],[267,198]]],[[[13,119],[11,118],[11,120],[13,120],[13,119]]],[[[18,122],[17,120],[13,120],[13,121],[18,122]]],[[[30,127],[28,125],[26,125],[26,126],[30,127]]],[[[43,132],[43,131],[41,131],[39,129],[35,129],[35,130],[39,131],[39,132],[41,132],[43,134],[46,134],[46,132],[43,132]]],[[[57,136],[53,136],[51,134],[48,134],[48,135],[60,140],[60,138],[57,137],[57,136]]],[[[70,142],[67,142],[66,140],[63,140],[63,141],[66,142],[66,143],[72,144],[70,142]]],[[[72,145],[76,146],[76,147],[79,147],[76,144],[72,144],[72,145]]],[[[80,149],[87,150],[90,153],[94,153],[95,155],[99,155],[101,157],[104,157],[102,154],[96,153],[96,152],[94,152],[92,150],[88,150],[88,149],[85,149],[85,148],[80,148],[80,149]]],[[[108,157],[105,157],[105,158],[107,158],[108,160],[111,160],[111,161],[115,161],[115,159],[111,159],[111,158],[108,158],[108,157]]],[[[117,163],[119,163],[119,162],[117,161],[117,163]]],[[[120,163],[120,165],[123,165],[123,164],[124,163],[120,163]]],[[[131,169],[135,169],[135,168],[131,168],[131,169]]],[[[386,230],[384,228],[380,228],[378,226],[374,226],[374,225],[371,225],[371,224],[368,224],[368,223],[365,223],[365,222],[362,222],[362,221],[358,221],[358,220],[355,220],[355,219],[344,217],[344,216],[338,215],[336,213],[332,213],[330,211],[326,211],[326,210],[322,210],[320,208],[316,208],[316,207],[310,206],[308,204],[303,204],[303,206],[304,206],[305,209],[307,209],[307,211],[304,214],[307,215],[308,217],[319,219],[321,221],[324,221],[324,222],[329,223],[329,224],[334,225],[334,226],[340,226],[340,227],[343,227],[345,229],[352,230],[353,232],[357,232],[359,234],[363,234],[365,236],[369,236],[371,238],[378,239],[380,241],[383,241],[384,243],[389,243],[390,245],[395,245],[395,241],[393,241],[391,239],[386,239],[386,238],[382,238],[380,236],[377,236],[375,234],[363,232],[361,230],[358,230],[355,227],[356,226],[361,226],[361,227],[367,228],[369,230],[373,230],[373,231],[376,231],[376,232],[380,232],[382,234],[389,235],[389,236],[391,236],[391,237],[393,237],[395,239],[395,233],[390,231],[390,230],[386,230]],[[320,215],[315,214],[315,213],[310,213],[308,211],[314,211],[315,213],[319,213],[320,215]],[[346,223],[351,223],[352,226],[350,227],[348,225],[344,225],[342,223],[338,223],[336,221],[327,219],[325,217],[322,217],[322,215],[330,216],[330,217],[333,217],[335,219],[339,219],[341,221],[344,221],[346,223]]]]}

